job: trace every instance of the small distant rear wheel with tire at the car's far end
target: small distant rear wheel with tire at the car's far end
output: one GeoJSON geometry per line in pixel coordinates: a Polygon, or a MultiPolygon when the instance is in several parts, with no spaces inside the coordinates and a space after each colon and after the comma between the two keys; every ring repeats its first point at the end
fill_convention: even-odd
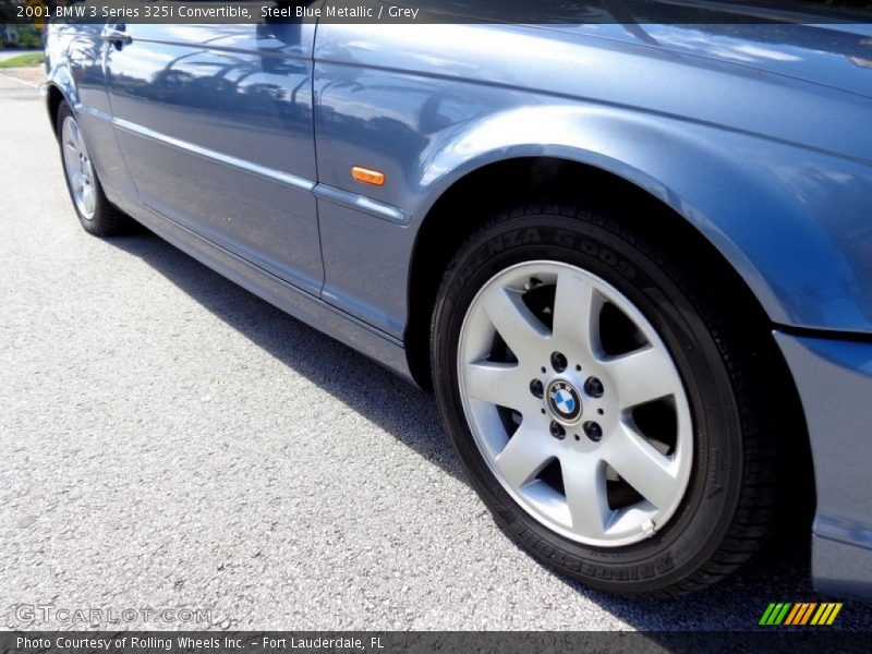
{"type": "Polygon", "coordinates": [[[58,109],[57,133],[66,189],[82,227],[97,237],[124,231],[130,218],[106,198],[78,121],[66,102],[58,109]]]}

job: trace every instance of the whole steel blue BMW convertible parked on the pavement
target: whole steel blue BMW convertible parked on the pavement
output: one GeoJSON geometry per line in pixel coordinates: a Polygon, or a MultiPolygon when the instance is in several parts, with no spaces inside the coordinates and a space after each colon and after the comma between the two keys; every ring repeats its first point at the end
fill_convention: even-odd
{"type": "Polygon", "coordinates": [[[801,506],[869,595],[872,27],[739,22],[53,25],[45,95],[85,230],[432,387],[543,564],[687,593],[801,506]]]}

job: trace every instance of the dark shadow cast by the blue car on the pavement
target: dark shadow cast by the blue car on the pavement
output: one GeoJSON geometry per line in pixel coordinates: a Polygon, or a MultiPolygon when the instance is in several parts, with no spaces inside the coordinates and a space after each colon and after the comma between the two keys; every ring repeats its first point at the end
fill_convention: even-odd
{"type": "MultiPolygon", "coordinates": [[[[284,314],[144,229],[108,242],[140,257],[270,355],[465,483],[439,426],[432,395],[284,314]],[[305,347],[301,348],[301,343],[305,347]]],[[[808,532],[804,537],[802,532],[784,536],[730,578],[675,600],[620,600],[553,574],[639,630],[744,630],[756,626],[770,602],[834,601],[822,597],[810,584],[807,540],[808,532]]],[[[872,610],[859,603],[846,605],[838,627],[870,630],[872,610]]]]}

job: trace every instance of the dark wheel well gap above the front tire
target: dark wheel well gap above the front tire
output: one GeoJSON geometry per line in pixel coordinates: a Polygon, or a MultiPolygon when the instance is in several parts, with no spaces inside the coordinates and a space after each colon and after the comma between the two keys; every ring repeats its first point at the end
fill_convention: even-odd
{"type": "MultiPolygon", "coordinates": [[[[771,320],[727,259],[690,222],[668,205],[623,178],[591,166],[553,158],[520,158],[483,167],[455,183],[425,217],[412,255],[409,283],[409,323],[405,332],[409,365],[415,380],[432,387],[429,331],[436,295],[443,276],[467,241],[485,221],[500,210],[520,203],[583,203],[585,208],[609,209],[627,227],[668,234],[675,247],[694,253],[693,259],[714,268],[717,279],[725,280],[732,302],[747,315],[747,324],[762,346],[762,353],[774,370],[770,371],[774,404],[779,416],[796,420],[792,435],[804,434],[804,447],[794,439],[784,452],[789,470],[794,511],[791,526],[810,529],[814,511],[814,474],[804,414],[787,364],[771,334],[771,320]]],[[[806,533],[808,533],[808,529],[806,533]]]]}

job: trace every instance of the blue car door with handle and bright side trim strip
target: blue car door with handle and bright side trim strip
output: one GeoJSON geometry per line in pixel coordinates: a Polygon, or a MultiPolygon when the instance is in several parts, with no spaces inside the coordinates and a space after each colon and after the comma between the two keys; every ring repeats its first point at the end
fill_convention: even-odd
{"type": "Polygon", "coordinates": [[[113,123],[138,202],[318,293],[315,26],[107,29],[113,123]]]}

